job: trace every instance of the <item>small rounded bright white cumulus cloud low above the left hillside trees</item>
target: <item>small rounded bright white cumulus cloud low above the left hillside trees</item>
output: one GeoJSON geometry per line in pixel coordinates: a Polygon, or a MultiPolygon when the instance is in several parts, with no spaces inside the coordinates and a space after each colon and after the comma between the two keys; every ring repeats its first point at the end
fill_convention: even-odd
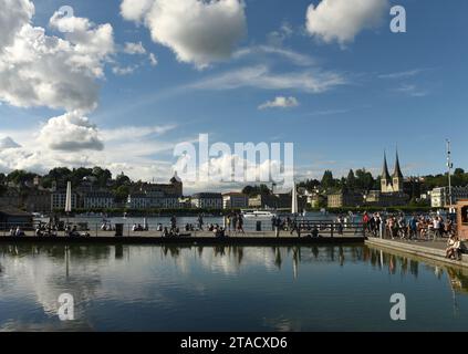
{"type": "Polygon", "coordinates": [[[102,150],[104,145],[97,128],[79,112],[50,118],[39,132],[38,140],[52,150],[102,150]]]}

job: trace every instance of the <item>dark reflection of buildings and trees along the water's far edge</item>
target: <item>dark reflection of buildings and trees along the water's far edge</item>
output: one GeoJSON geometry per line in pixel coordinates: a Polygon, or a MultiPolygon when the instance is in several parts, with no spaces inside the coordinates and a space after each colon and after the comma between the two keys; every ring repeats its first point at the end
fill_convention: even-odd
{"type": "MultiPolygon", "coordinates": [[[[105,244],[3,244],[0,246],[0,256],[17,257],[18,259],[32,259],[39,256],[45,256],[53,260],[54,264],[63,264],[62,274],[54,273],[59,282],[66,282],[66,279],[73,275],[73,267],[90,267],[98,264],[93,261],[106,261],[113,259],[121,262],[131,262],[132,257],[137,253],[131,252],[131,248],[142,249],[144,251],[148,246],[105,246],[105,244]]],[[[282,270],[285,260],[291,260],[291,274],[294,279],[300,277],[301,264],[330,262],[345,267],[346,262],[364,262],[372,268],[386,270],[392,275],[401,277],[412,275],[418,278],[419,259],[406,257],[396,253],[389,253],[379,249],[367,248],[364,246],[302,246],[302,247],[241,247],[241,246],[162,246],[150,247],[152,252],[162,254],[163,258],[175,260],[176,264],[181,264],[187,254],[193,253],[205,268],[216,269],[226,273],[239,272],[241,267],[261,266],[269,271],[282,270]],[[211,268],[210,268],[211,267],[211,268]]],[[[143,252],[143,251],[142,251],[143,252]]],[[[426,262],[425,262],[426,263],[426,262]]],[[[31,263],[32,264],[32,263],[31,263]]],[[[461,268],[450,268],[445,264],[433,266],[426,263],[436,279],[444,279],[447,274],[450,288],[455,293],[468,294],[468,270],[461,268]]],[[[4,273],[4,263],[0,263],[0,277],[4,273]]],[[[95,266],[97,267],[97,266],[95,266]]],[[[181,266],[180,266],[181,267],[181,266]]],[[[187,266],[185,266],[187,267],[187,266]]],[[[289,267],[289,266],[288,266],[289,267]]],[[[187,269],[189,271],[189,267],[187,269]]],[[[98,269],[93,269],[89,274],[94,277],[83,279],[84,292],[91,294],[93,287],[100,282],[98,269]]],[[[80,280],[73,278],[73,282],[80,285],[80,280]]]]}

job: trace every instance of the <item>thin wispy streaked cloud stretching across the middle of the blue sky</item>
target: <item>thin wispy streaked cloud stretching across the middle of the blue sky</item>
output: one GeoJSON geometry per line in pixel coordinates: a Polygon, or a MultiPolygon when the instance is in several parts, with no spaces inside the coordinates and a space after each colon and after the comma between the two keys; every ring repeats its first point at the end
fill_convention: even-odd
{"type": "Polygon", "coordinates": [[[233,90],[254,87],[262,90],[298,90],[321,93],[346,84],[345,77],[334,72],[301,71],[273,74],[268,66],[248,66],[204,79],[188,85],[197,90],[233,90]]]}

